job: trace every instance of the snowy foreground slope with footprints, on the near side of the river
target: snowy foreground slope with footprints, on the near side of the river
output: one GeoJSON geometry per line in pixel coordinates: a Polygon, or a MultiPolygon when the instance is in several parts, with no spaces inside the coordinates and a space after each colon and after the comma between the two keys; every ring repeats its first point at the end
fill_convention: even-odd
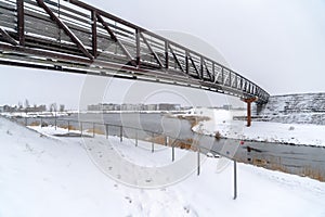
{"type": "MultiPolygon", "coordinates": [[[[207,158],[202,175],[153,190],[121,184],[90,159],[81,138],[56,138],[0,117],[0,216],[325,216],[325,183],[238,164],[238,197],[232,199],[233,168],[207,158]]],[[[62,131],[62,133],[64,130],[62,131]]],[[[89,138],[101,142],[101,138],[89,138]]],[[[109,138],[119,152],[146,165],[167,162],[129,140],[109,138]]],[[[100,144],[99,144],[100,145],[100,144]]],[[[143,143],[142,145],[145,145],[143,143]]],[[[182,155],[177,153],[177,159],[182,155]]],[[[195,154],[195,153],[194,153],[195,154]]],[[[170,161],[170,158],[168,158],[170,161]]]]}

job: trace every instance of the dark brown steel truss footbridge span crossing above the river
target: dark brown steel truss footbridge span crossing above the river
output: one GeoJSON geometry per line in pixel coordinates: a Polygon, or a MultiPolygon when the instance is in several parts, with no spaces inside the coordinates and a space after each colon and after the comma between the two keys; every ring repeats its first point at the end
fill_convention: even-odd
{"type": "Polygon", "coordinates": [[[0,64],[170,84],[268,102],[216,61],[78,0],[0,0],[0,64]]]}

